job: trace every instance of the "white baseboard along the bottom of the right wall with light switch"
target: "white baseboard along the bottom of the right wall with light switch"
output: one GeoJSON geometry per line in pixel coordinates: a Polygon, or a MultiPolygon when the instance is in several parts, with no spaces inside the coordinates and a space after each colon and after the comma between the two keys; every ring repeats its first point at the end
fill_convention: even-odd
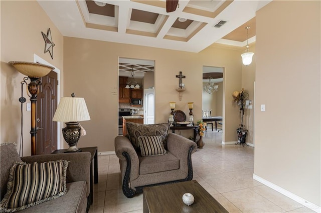
{"type": "Polygon", "coordinates": [[[284,188],[278,186],[278,185],[275,185],[274,183],[270,182],[270,181],[267,181],[266,179],[262,178],[262,177],[259,177],[255,174],[253,174],[253,179],[263,183],[264,185],[280,192],[281,194],[293,199],[294,201],[306,206],[307,208],[315,211],[315,212],[321,212],[321,207],[320,206],[317,206],[315,205],[314,203],[311,203],[305,199],[303,199],[302,197],[296,195],[296,194],[293,194],[292,192],[288,191],[288,190],[285,190],[284,188]]]}

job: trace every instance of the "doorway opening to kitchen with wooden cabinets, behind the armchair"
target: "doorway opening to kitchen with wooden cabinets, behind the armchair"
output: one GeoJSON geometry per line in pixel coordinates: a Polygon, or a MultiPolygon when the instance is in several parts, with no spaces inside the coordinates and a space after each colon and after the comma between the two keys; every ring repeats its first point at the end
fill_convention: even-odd
{"type": "Polygon", "coordinates": [[[154,60],[119,57],[118,135],[123,132],[120,111],[140,116],[145,124],[154,122],[154,71],[154,60]]]}

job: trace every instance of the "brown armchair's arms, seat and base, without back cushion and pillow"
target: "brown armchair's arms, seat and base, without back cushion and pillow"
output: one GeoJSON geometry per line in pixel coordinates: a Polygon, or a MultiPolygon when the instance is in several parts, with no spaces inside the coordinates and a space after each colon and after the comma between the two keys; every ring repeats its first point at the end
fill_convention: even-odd
{"type": "Polygon", "coordinates": [[[129,137],[127,135],[115,138],[115,152],[119,158],[122,176],[122,191],[126,197],[130,198],[135,193],[142,192],[145,186],[193,179],[191,154],[197,149],[194,141],[178,134],[168,133],[166,154],[143,157],[140,151],[134,148],[129,137]]]}

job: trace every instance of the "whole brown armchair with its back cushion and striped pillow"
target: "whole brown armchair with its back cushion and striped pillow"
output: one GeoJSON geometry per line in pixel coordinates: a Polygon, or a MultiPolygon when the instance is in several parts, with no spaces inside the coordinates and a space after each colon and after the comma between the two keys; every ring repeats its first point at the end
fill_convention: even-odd
{"type": "Polygon", "coordinates": [[[131,198],[145,186],[193,179],[191,155],[197,144],[168,133],[170,124],[126,123],[128,135],[115,138],[122,191],[131,198]]]}

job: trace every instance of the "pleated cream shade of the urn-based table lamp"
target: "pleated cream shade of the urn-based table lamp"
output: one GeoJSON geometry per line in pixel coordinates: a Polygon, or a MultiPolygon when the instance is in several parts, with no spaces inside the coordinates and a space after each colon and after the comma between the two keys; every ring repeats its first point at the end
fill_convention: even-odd
{"type": "Polygon", "coordinates": [[[62,97],[52,120],[63,122],[90,120],[85,99],[62,97]]]}

